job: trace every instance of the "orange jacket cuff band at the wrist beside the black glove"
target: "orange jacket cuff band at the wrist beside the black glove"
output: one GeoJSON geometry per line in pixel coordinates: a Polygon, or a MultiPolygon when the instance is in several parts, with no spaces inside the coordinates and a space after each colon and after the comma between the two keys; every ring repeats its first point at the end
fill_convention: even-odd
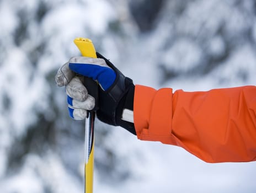
{"type": "Polygon", "coordinates": [[[175,143],[172,139],[172,89],[135,86],[134,124],[140,140],[175,143]]]}

